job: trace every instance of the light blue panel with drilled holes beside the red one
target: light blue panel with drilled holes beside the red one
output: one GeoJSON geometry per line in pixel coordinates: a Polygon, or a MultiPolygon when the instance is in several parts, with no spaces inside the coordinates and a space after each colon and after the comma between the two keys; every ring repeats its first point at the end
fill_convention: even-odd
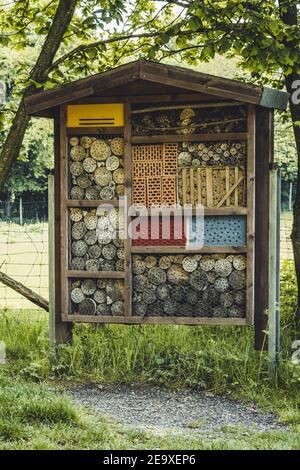
{"type": "MultiPolygon", "coordinates": [[[[201,231],[201,222],[198,222],[197,233],[201,231]]],[[[190,245],[198,244],[195,239],[196,218],[190,224],[190,245]]],[[[201,235],[199,235],[201,238],[201,235]]],[[[241,246],[247,244],[247,217],[246,216],[219,216],[204,217],[204,246],[241,246]]]]}

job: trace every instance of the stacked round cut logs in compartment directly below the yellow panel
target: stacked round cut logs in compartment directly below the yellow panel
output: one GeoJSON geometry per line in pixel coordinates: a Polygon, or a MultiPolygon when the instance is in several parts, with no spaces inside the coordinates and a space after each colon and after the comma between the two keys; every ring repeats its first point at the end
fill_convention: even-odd
{"type": "Polygon", "coordinates": [[[69,139],[70,198],[111,200],[124,195],[124,140],[69,139]]]}

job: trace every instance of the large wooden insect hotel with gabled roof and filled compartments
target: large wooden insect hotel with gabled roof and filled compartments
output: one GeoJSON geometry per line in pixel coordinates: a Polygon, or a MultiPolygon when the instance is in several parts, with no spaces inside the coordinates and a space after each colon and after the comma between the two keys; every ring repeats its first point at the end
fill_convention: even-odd
{"type": "MultiPolygon", "coordinates": [[[[27,98],[28,115],[54,119],[57,328],[255,320],[262,330],[273,115],[286,105],[280,91],[147,61],[27,98]],[[121,201],[155,208],[157,224],[140,218],[146,237],[124,239],[118,224],[112,235],[121,201]],[[186,204],[178,236],[173,209],[186,204]]],[[[124,213],[128,227],[137,213],[124,213]]]]}

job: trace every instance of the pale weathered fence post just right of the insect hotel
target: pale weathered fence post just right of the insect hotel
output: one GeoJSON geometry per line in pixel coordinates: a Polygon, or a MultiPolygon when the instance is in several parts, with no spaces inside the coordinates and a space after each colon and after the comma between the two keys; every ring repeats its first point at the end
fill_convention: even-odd
{"type": "Polygon", "coordinates": [[[269,373],[275,378],[280,351],[280,174],[270,170],[269,195],[269,373]]]}

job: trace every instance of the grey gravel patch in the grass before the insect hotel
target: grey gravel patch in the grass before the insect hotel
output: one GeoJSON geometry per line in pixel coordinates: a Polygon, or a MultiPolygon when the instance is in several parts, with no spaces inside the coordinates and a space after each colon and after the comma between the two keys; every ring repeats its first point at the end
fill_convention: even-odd
{"type": "MultiPolygon", "coordinates": [[[[169,432],[222,434],[225,427],[245,432],[286,429],[269,413],[225,397],[158,387],[80,386],[68,390],[75,402],[112,418],[126,427],[165,434],[169,432]]],[[[208,437],[208,436],[207,436],[208,437]]]]}

